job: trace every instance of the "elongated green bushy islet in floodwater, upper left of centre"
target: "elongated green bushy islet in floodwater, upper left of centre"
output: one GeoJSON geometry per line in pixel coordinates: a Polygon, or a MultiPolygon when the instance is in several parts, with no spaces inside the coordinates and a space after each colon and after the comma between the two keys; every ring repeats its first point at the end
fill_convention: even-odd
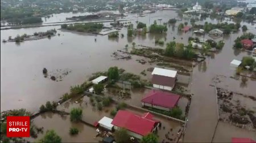
{"type": "Polygon", "coordinates": [[[102,23],[85,23],[85,24],[70,24],[70,25],[61,25],[61,28],[68,29],[70,31],[78,32],[89,32],[89,33],[98,33],[103,28],[102,23]]]}

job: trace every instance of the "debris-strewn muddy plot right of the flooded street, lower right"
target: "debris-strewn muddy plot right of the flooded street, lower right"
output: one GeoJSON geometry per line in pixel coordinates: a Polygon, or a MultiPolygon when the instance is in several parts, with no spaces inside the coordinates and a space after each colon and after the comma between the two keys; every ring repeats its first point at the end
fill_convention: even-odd
{"type": "Polygon", "coordinates": [[[255,131],[256,129],[256,99],[217,88],[220,120],[240,128],[255,131]]]}

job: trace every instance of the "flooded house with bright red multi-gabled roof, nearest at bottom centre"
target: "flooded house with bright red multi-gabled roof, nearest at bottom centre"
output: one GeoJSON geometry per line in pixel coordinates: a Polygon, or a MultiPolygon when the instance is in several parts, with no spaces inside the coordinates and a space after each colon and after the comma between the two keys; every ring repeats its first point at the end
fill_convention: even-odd
{"type": "Polygon", "coordinates": [[[130,111],[118,110],[112,124],[114,129],[126,128],[130,136],[141,139],[159,128],[160,122],[153,118],[154,115],[150,114],[150,112],[137,115],[130,111]]]}

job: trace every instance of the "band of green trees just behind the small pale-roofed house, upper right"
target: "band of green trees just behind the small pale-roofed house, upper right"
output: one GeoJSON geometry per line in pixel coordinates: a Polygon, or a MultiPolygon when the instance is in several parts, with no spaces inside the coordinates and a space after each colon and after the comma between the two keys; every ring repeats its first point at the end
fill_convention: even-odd
{"type": "Polygon", "coordinates": [[[232,31],[238,31],[238,29],[241,27],[240,23],[217,23],[217,24],[212,24],[212,23],[208,23],[205,22],[204,25],[197,25],[194,24],[193,28],[197,28],[197,29],[204,29],[205,32],[209,32],[212,29],[221,29],[224,34],[230,34],[230,32],[232,31]]]}

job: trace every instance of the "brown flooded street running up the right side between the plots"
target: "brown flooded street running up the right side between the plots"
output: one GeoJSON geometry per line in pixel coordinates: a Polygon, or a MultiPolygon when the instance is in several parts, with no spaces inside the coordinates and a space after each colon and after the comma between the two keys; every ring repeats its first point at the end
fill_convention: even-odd
{"type": "MultiPolygon", "coordinates": [[[[255,32],[254,32],[255,33],[255,32]]],[[[246,88],[240,86],[240,80],[230,79],[234,75],[229,65],[233,59],[241,60],[242,57],[250,53],[234,50],[234,40],[242,32],[231,34],[224,38],[225,45],[220,53],[213,57],[205,59],[193,68],[191,80],[192,102],[188,113],[187,128],[185,131],[184,142],[211,142],[214,129],[217,124],[217,102],[216,93],[213,86],[213,77],[224,76],[225,81],[219,85],[225,84],[223,88],[240,93],[250,94],[255,85],[255,81],[249,80],[246,88]]],[[[218,40],[217,40],[218,41],[218,40]]],[[[218,84],[217,84],[218,86],[218,84]]],[[[222,85],[223,86],[223,85],[222,85]]],[[[220,138],[221,140],[221,138],[220,138]]],[[[231,141],[231,138],[230,138],[231,141]]]]}

